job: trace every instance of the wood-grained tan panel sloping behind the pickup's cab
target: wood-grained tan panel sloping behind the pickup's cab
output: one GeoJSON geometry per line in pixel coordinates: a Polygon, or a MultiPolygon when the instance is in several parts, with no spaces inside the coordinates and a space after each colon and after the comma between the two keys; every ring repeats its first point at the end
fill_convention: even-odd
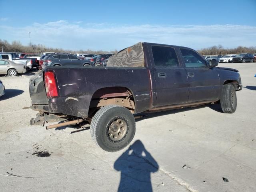
{"type": "Polygon", "coordinates": [[[144,67],[142,42],[125,48],[108,59],[108,67],[144,67]]]}

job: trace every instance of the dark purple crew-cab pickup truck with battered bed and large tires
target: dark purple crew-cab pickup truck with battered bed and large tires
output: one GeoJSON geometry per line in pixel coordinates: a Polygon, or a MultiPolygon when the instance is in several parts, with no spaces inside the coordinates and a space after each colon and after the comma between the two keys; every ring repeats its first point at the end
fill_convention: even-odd
{"type": "Polygon", "coordinates": [[[118,151],[134,137],[134,114],[205,104],[234,113],[240,74],[217,65],[190,48],[140,42],[111,56],[107,67],[45,68],[29,82],[31,108],[39,112],[30,124],[88,122],[98,146],[118,151]]]}

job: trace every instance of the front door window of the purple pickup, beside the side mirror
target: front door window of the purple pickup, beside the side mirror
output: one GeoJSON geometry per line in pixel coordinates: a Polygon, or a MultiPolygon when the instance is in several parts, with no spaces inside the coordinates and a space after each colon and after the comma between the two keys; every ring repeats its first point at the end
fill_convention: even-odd
{"type": "Polygon", "coordinates": [[[180,49],[186,67],[206,67],[205,60],[196,52],[190,49],[180,49]]]}

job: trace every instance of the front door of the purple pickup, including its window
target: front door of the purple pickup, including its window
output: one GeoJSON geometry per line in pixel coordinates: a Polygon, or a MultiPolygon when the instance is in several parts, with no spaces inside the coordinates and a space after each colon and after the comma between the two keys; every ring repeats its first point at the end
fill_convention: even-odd
{"type": "Polygon", "coordinates": [[[217,100],[220,96],[220,78],[216,68],[209,68],[208,62],[197,52],[180,48],[188,84],[188,102],[217,100]]]}

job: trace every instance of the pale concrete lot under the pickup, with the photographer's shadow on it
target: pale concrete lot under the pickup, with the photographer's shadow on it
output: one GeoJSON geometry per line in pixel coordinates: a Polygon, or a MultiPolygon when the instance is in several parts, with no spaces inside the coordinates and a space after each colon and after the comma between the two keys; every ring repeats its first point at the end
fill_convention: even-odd
{"type": "Polygon", "coordinates": [[[101,150],[89,128],[30,126],[29,78],[0,76],[0,191],[256,191],[256,63],[236,68],[243,90],[234,114],[201,106],[138,119],[132,143],[101,150]]]}

